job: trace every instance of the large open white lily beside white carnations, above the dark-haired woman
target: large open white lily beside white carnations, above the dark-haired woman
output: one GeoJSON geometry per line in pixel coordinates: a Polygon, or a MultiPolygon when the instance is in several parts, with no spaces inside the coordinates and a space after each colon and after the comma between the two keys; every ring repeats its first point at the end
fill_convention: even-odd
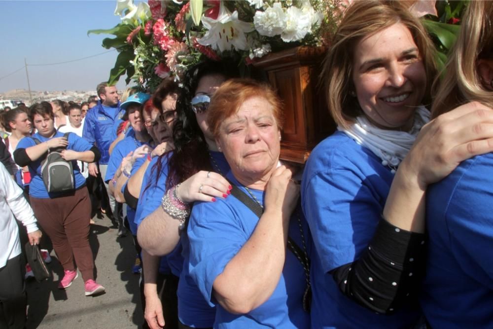
{"type": "Polygon", "coordinates": [[[220,2],[217,19],[202,17],[202,24],[208,30],[204,37],[197,41],[204,46],[223,52],[234,47],[238,50],[247,50],[245,34],[253,31],[253,25],[238,19],[238,11],[231,13],[223,2],[220,2]]]}

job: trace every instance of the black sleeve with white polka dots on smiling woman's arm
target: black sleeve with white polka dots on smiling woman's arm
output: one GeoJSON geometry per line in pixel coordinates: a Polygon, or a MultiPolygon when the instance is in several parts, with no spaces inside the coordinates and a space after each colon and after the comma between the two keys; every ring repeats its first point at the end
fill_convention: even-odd
{"type": "Polygon", "coordinates": [[[392,314],[415,298],[425,267],[425,234],[380,220],[360,258],[330,271],[339,289],[358,304],[392,314]]]}

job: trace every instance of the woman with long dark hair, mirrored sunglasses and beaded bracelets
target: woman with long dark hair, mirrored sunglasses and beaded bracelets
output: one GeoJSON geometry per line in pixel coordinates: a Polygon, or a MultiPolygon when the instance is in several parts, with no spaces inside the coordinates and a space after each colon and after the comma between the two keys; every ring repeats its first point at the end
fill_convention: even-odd
{"type": "MultiPolygon", "coordinates": [[[[235,65],[208,60],[187,70],[176,102],[175,149],[154,157],[142,182],[135,220],[144,273],[157,270],[157,256],[166,255],[171,272],[179,277],[181,329],[211,328],[214,323],[215,309],[188,273],[188,237],[183,228],[191,202],[213,202],[229,193],[229,183],[221,176],[229,166],[217,149],[206,120],[211,95],[227,78],[237,75],[235,72],[235,65]]],[[[146,305],[145,318],[149,324],[163,326],[166,319],[163,321],[161,305],[154,300],[152,309],[146,305]]]]}

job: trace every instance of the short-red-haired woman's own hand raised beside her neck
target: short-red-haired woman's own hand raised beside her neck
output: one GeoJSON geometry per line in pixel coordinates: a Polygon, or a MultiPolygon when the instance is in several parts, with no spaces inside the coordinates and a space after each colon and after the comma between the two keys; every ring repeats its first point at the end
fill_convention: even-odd
{"type": "Polygon", "coordinates": [[[291,179],[293,171],[286,166],[276,168],[265,189],[265,209],[272,207],[282,210],[289,218],[296,208],[300,196],[300,185],[291,179]]]}

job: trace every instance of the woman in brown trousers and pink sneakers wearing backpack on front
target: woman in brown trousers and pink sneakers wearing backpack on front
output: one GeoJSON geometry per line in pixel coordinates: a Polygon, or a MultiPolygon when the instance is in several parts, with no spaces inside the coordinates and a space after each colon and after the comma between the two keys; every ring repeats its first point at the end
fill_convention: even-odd
{"type": "Polygon", "coordinates": [[[105,288],[94,281],[94,258],[89,246],[91,202],[85,178],[77,167],[77,160],[94,162],[99,159],[100,153],[96,147],[75,134],[65,138],[64,134],[57,132],[50,103],[36,103],[29,111],[37,133],[19,142],[14,159],[19,166],[29,167],[32,177],[29,190],[31,206],[64,268],[64,277],[58,288],[70,287],[77,278],[76,264],[84,280],[86,296],[102,293],[105,288]],[[36,144],[34,139],[40,143],[36,144]],[[64,148],[62,157],[72,162],[75,189],[50,193],[43,182],[41,162],[50,150],[58,148],[64,148]]]}

